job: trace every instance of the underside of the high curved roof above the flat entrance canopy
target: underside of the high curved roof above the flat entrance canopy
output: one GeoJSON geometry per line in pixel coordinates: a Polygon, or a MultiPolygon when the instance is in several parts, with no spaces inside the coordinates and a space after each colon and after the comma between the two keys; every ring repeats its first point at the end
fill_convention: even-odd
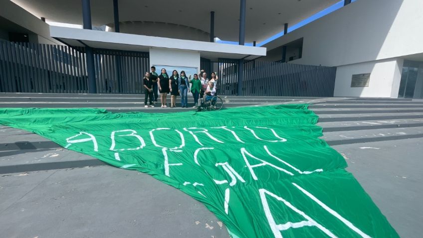
{"type": "MultiPolygon", "coordinates": [[[[81,0],[12,0],[47,21],[82,24],[81,0]]],[[[260,42],[339,0],[246,0],[245,40],[260,42]]],[[[239,0],[119,0],[120,21],[156,21],[191,26],[238,41],[239,0]]],[[[91,0],[93,25],[113,23],[113,0],[91,0]]]]}

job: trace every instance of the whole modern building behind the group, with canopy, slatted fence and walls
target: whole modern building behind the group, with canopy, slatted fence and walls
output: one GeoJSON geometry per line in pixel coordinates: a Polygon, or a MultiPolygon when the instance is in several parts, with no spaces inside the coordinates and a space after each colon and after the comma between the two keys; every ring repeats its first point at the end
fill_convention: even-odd
{"type": "Polygon", "coordinates": [[[71,88],[65,86],[72,83],[64,78],[75,77],[87,80],[86,87],[76,92],[137,93],[140,90],[123,89],[134,88],[136,79],[150,66],[169,66],[218,72],[227,91],[237,95],[256,92],[246,87],[261,84],[260,95],[268,96],[423,96],[423,33],[414,30],[423,20],[418,10],[423,6],[421,0],[345,0],[344,7],[290,32],[288,26],[339,0],[217,0],[196,4],[188,0],[81,0],[81,4],[65,0],[0,1],[4,6],[0,9],[0,40],[55,48],[50,52],[50,46],[43,46],[43,52],[34,45],[4,46],[3,91],[29,88],[19,86],[25,83],[34,88],[48,76],[48,92],[71,88]],[[62,24],[54,26],[45,21],[62,24]],[[255,46],[284,28],[283,36],[255,46]],[[217,43],[216,37],[238,44],[217,43]],[[253,46],[245,42],[253,42],[253,46]],[[13,53],[15,48],[22,52],[13,53]],[[34,74],[31,62],[17,62],[19,57],[14,54],[52,60],[43,68],[47,76],[30,76],[34,74]],[[63,60],[54,61],[59,58],[63,60]],[[290,69],[277,64],[285,62],[299,66],[290,69]],[[55,63],[56,69],[52,66],[55,63]],[[24,68],[19,64],[27,65],[30,79],[23,76],[25,73],[15,75],[17,68],[24,68]],[[309,65],[322,66],[322,70],[336,67],[336,74],[332,69],[317,73],[319,70],[313,71],[309,65]],[[322,85],[325,78],[327,86],[315,86],[322,85]],[[270,93],[274,80],[281,81],[276,85],[284,93],[270,93]],[[331,93],[321,94],[319,90],[331,93]]]}

